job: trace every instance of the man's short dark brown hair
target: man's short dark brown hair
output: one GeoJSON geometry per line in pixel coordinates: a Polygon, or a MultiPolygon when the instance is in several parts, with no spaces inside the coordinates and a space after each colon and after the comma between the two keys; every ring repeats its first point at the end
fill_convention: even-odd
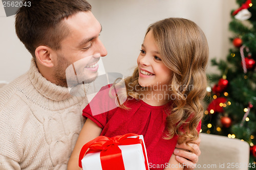
{"type": "Polygon", "coordinates": [[[91,11],[91,5],[84,0],[26,0],[31,6],[23,6],[16,12],[15,29],[20,41],[35,57],[35,49],[46,45],[53,50],[60,49],[59,42],[69,30],[61,20],[77,12],[91,11]]]}

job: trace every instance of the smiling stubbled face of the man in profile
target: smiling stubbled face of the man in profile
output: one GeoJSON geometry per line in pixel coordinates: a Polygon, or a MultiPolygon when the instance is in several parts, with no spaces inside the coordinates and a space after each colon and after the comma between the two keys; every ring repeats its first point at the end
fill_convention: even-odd
{"type": "Polygon", "coordinates": [[[100,57],[107,54],[99,40],[101,25],[91,11],[78,12],[63,22],[69,29],[69,35],[60,42],[61,48],[56,51],[56,84],[67,87],[67,81],[74,81],[73,84],[89,83],[97,77],[100,57]],[[72,70],[74,76],[66,78],[66,69],[72,70]]]}

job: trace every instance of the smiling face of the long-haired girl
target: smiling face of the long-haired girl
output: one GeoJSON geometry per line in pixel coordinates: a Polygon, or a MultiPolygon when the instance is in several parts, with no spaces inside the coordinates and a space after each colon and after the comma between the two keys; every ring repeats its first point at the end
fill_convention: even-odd
{"type": "Polygon", "coordinates": [[[164,65],[152,31],[145,36],[137,63],[140,86],[159,90],[161,85],[169,84],[172,71],[164,65]]]}

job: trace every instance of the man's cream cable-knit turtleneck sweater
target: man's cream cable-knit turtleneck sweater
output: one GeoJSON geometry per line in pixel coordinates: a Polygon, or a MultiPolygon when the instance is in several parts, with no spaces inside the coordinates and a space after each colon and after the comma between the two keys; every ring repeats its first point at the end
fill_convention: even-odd
{"type": "Polygon", "coordinates": [[[0,89],[0,169],[67,169],[86,99],[29,71],[0,89]]]}

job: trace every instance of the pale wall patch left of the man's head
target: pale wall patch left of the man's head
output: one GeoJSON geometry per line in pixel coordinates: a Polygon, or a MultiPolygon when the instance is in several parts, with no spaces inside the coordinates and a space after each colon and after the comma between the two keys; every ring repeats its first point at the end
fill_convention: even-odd
{"type": "Polygon", "coordinates": [[[12,81],[30,65],[30,53],[17,38],[14,21],[14,16],[6,17],[0,2],[0,81],[12,81]]]}

